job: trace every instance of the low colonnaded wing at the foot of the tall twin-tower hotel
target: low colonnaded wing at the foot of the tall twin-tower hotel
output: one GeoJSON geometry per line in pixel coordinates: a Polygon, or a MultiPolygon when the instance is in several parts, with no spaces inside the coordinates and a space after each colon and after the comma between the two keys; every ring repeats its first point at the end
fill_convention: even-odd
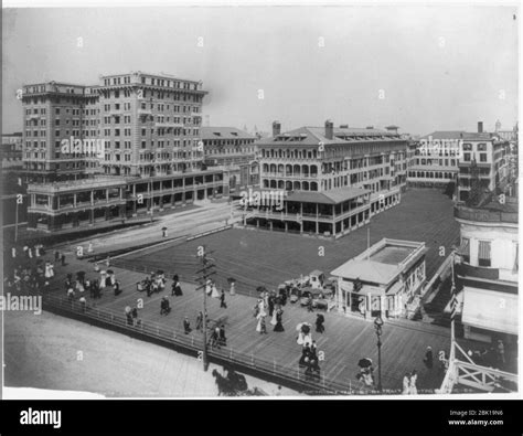
{"type": "Polygon", "coordinates": [[[223,172],[202,170],[178,176],[102,176],[29,184],[28,227],[67,232],[152,220],[154,213],[223,196],[223,172]]]}

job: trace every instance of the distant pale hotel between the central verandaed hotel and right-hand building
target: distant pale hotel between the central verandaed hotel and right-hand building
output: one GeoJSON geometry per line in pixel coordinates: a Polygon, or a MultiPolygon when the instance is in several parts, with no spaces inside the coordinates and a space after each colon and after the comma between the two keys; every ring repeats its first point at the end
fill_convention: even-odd
{"type": "Polygon", "coordinates": [[[445,188],[456,181],[463,131],[434,131],[419,139],[409,160],[407,184],[445,188]]]}

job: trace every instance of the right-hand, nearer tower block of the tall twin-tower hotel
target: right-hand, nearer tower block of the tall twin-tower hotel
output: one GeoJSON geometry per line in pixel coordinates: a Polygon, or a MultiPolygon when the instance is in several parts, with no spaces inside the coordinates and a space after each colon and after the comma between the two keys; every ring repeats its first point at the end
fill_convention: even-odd
{"type": "Polygon", "coordinates": [[[169,176],[202,167],[200,82],[137,72],[102,76],[97,92],[105,173],[169,176]]]}

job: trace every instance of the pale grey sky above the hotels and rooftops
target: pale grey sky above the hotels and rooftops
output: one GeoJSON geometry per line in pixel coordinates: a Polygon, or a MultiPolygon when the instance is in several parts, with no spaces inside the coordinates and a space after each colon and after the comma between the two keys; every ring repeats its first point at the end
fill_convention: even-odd
{"type": "Polygon", "coordinates": [[[15,96],[24,84],[93,85],[130,71],[203,81],[212,126],[270,131],[277,119],[285,131],[331,119],[425,135],[474,131],[478,121],[493,130],[498,119],[511,129],[517,120],[515,7],[2,12],[2,132],[22,130],[15,96]]]}

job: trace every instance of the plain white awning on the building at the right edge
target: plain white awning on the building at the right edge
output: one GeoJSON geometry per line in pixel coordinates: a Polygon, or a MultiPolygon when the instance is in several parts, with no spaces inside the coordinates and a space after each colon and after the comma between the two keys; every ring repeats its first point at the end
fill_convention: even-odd
{"type": "Polygon", "coordinates": [[[517,295],[466,286],[461,322],[484,330],[517,334],[517,295]]]}

